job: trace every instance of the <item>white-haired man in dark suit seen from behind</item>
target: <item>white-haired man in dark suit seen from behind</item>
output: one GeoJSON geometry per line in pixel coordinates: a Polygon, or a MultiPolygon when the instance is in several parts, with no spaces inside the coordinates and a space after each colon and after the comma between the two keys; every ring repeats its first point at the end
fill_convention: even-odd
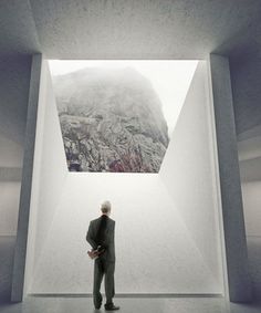
{"type": "Polygon", "coordinates": [[[103,277],[105,277],[106,311],[119,310],[113,303],[114,298],[114,270],[115,270],[115,247],[114,229],[115,221],[108,216],[111,213],[111,204],[105,201],[101,207],[102,216],[90,222],[86,240],[94,250],[102,251],[94,261],[94,284],[93,302],[95,309],[102,305],[102,294],[100,292],[103,277]]]}

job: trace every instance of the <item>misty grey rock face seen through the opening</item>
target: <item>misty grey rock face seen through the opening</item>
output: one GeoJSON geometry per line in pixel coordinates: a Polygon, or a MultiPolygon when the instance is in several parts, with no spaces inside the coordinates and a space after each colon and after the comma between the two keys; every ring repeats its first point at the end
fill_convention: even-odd
{"type": "Polygon", "coordinates": [[[54,77],[69,170],[158,173],[167,124],[150,82],[132,67],[54,77]]]}

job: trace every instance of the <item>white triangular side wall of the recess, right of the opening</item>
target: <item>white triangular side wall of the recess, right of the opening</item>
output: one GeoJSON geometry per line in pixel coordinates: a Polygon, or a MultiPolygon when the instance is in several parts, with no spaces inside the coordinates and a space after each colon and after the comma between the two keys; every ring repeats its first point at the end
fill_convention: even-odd
{"type": "Polygon", "coordinates": [[[207,62],[199,62],[160,169],[195,244],[221,277],[219,207],[207,62]]]}

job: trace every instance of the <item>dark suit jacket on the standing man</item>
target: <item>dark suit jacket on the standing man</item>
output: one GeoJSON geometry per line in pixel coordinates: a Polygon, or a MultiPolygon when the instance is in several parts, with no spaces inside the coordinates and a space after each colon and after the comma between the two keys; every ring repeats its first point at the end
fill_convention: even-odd
{"type": "MultiPolygon", "coordinates": [[[[92,220],[88,226],[86,240],[92,246],[93,249],[97,249],[101,244],[101,222],[104,217],[92,220]]],[[[102,241],[105,247],[105,252],[100,257],[108,262],[115,262],[115,244],[114,244],[114,229],[115,221],[109,217],[106,217],[105,228],[102,230],[102,241]]]]}

